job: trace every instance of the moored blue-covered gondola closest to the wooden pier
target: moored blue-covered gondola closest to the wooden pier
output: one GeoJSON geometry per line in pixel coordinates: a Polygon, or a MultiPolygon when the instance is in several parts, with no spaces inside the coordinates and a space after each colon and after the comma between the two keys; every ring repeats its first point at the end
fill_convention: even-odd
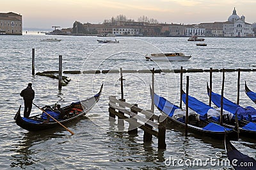
{"type": "MultiPolygon", "coordinates": [[[[154,94],[154,104],[160,112],[168,116],[170,121],[183,128],[186,126],[184,116],[186,111],[156,93],[154,94]]],[[[196,120],[195,113],[190,112],[189,114],[188,132],[222,140],[224,140],[226,132],[229,139],[237,139],[237,133],[234,132],[234,129],[221,127],[216,123],[206,123],[205,121],[196,120]]]]}

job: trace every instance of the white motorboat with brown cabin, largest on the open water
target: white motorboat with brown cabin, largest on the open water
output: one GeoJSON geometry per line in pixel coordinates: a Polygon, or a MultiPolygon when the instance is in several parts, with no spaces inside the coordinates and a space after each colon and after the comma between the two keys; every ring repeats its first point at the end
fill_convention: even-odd
{"type": "Polygon", "coordinates": [[[187,61],[191,56],[185,56],[182,52],[175,52],[146,54],[145,58],[150,61],[187,61]]]}

